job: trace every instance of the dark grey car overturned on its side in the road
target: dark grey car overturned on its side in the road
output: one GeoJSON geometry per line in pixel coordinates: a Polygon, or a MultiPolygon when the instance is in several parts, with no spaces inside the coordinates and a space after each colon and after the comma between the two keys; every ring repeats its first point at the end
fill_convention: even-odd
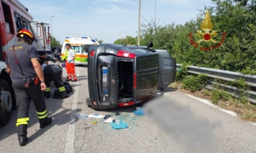
{"type": "Polygon", "coordinates": [[[88,50],[87,105],[96,109],[130,106],[165,90],[176,77],[168,50],[100,44],[88,50]]]}

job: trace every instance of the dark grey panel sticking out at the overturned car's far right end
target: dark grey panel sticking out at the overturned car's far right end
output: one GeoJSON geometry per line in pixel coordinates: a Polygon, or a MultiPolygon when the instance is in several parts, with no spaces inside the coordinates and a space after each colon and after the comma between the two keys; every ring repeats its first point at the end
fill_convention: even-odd
{"type": "Polygon", "coordinates": [[[176,59],[169,55],[168,50],[157,50],[159,54],[158,90],[165,90],[176,77],[176,59]]]}

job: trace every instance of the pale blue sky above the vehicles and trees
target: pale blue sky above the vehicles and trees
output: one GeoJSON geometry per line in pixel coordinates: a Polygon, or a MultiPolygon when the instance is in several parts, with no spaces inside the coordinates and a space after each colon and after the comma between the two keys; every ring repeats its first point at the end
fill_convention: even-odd
{"type": "MultiPolygon", "coordinates": [[[[34,21],[52,21],[52,35],[61,44],[66,36],[91,36],[113,43],[138,35],[139,0],[19,1],[29,9],[34,21]]],[[[140,21],[156,18],[160,25],[185,24],[195,19],[204,5],[213,4],[211,0],[141,0],[140,21]]]]}

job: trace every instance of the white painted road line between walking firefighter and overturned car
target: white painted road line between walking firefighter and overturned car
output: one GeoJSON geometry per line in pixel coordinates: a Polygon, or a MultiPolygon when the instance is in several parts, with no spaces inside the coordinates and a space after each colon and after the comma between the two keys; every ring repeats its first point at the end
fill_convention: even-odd
{"type": "MultiPolygon", "coordinates": [[[[79,75],[77,73],[77,75],[79,75]]],[[[76,81],[76,85],[78,81],[76,81]]],[[[75,87],[76,90],[74,92],[74,99],[72,104],[72,110],[70,113],[70,121],[68,125],[68,132],[66,137],[66,146],[65,146],[65,153],[72,153],[74,151],[74,138],[75,138],[75,131],[76,131],[76,110],[77,110],[77,97],[79,93],[79,86],[75,87]]]]}

